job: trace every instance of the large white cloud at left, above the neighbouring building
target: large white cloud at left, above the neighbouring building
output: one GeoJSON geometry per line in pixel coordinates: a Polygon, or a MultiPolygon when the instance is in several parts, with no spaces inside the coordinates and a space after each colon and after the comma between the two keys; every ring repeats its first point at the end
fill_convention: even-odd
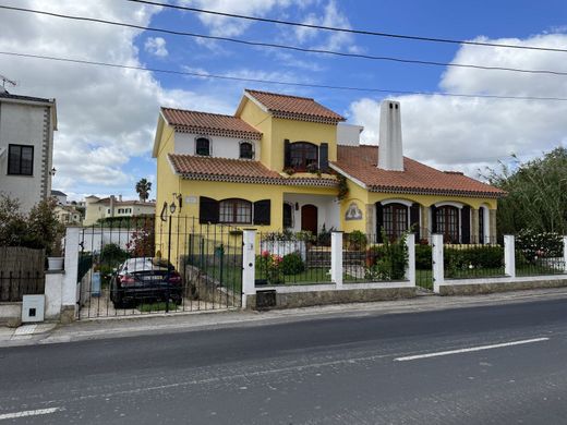
{"type": "MultiPolygon", "coordinates": [[[[9,3],[142,26],[156,13],[156,8],[113,0],[9,3]]],[[[0,12],[0,22],[1,50],[141,65],[134,45],[141,31],[9,11],[0,12]]],[[[0,69],[21,83],[12,93],[57,99],[53,187],[64,192],[133,195],[135,181],[145,175],[134,175],[131,161],[149,155],[160,105],[228,110],[215,94],[165,89],[144,71],[5,56],[0,69]]]]}

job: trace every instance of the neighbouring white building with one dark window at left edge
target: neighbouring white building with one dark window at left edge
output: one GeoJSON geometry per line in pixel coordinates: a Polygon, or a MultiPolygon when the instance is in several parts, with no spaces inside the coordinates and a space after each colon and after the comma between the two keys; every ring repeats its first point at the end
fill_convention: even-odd
{"type": "Polygon", "coordinates": [[[29,211],[51,195],[55,99],[17,96],[0,87],[0,192],[29,211]]]}

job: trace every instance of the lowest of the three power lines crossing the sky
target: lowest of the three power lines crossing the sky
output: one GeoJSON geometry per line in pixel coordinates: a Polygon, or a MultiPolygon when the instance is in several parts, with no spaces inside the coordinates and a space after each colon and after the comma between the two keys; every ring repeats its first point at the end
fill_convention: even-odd
{"type": "Polygon", "coordinates": [[[186,75],[186,76],[194,76],[194,77],[205,78],[205,80],[206,78],[228,80],[228,81],[239,81],[239,82],[246,82],[246,83],[275,84],[275,85],[282,85],[282,86],[310,87],[310,88],[327,88],[327,89],[348,90],[348,92],[465,97],[465,98],[486,98],[486,99],[505,99],[505,100],[567,101],[567,98],[565,98],[565,97],[472,95],[472,94],[461,94],[461,93],[417,92],[417,90],[399,90],[399,89],[374,88],[374,87],[334,86],[334,85],[314,84],[314,83],[293,83],[293,82],[276,81],[276,80],[246,78],[246,77],[232,76],[232,75],[208,74],[208,73],[190,72],[190,71],[164,70],[164,69],[158,69],[158,68],[145,68],[145,66],[136,66],[136,65],[126,65],[126,64],[122,64],[122,63],[89,61],[89,60],[83,60],[83,59],[57,58],[57,57],[52,57],[52,56],[19,53],[19,52],[13,52],[13,51],[0,51],[0,54],[19,57],[19,58],[43,59],[43,60],[50,60],[50,61],[57,61],[57,62],[80,63],[80,64],[85,64],[85,65],[108,66],[108,68],[114,68],[114,69],[156,72],[156,73],[170,74],[170,75],[186,75]]]}

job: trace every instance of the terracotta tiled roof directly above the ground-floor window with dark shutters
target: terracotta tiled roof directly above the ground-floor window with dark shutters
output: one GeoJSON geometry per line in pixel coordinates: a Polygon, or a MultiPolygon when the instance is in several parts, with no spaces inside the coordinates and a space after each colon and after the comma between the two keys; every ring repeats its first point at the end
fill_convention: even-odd
{"type": "Polygon", "coordinates": [[[335,178],[286,178],[269,170],[260,161],[181,154],[168,154],[168,158],[174,172],[190,180],[309,186],[337,185],[335,178]]]}

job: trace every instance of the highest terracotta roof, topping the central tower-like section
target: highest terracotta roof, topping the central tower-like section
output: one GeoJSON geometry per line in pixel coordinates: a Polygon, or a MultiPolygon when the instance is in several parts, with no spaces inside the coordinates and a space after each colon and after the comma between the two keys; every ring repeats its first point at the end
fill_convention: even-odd
{"type": "Polygon", "coordinates": [[[288,96],[277,93],[244,90],[264,106],[275,118],[336,124],[345,121],[337,112],[309,97],[288,96]]]}

